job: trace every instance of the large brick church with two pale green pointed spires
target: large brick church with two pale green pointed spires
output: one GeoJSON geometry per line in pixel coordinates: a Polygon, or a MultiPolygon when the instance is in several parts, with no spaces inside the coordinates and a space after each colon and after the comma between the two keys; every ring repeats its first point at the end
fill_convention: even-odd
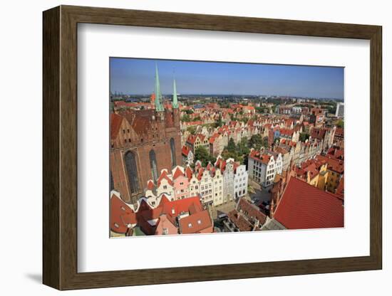
{"type": "Polygon", "coordinates": [[[143,196],[147,181],[156,181],[162,169],[182,164],[175,80],[172,108],[165,109],[157,67],[152,103],[155,109],[110,114],[110,190],[128,203],[143,196]]]}

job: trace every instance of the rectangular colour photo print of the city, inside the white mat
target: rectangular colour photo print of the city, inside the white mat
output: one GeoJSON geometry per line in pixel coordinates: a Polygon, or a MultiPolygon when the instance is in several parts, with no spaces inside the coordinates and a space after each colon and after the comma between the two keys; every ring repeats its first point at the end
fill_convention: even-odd
{"type": "Polygon", "coordinates": [[[344,227],[344,68],[109,63],[110,237],[344,227]]]}

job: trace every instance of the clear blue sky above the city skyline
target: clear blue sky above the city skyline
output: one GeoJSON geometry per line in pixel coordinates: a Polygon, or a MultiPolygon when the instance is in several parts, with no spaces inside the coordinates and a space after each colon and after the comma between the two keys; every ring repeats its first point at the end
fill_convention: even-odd
{"type": "Polygon", "coordinates": [[[344,68],[340,67],[134,58],[110,58],[110,91],[153,93],[155,63],[163,94],[172,93],[174,72],[179,94],[344,97],[344,68]]]}

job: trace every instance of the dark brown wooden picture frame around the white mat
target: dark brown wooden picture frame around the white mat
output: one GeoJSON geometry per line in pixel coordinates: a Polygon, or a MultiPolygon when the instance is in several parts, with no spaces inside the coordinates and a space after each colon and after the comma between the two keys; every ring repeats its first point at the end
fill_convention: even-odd
{"type": "Polygon", "coordinates": [[[43,12],[43,283],[59,290],[382,268],[381,26],[81,6],[43,12]],[[232,265],[78,273],[77,25],[187,28],[370,41],[370,255],[232,265]],[[49,227],[50,226],[50,227],[49,227]]]}

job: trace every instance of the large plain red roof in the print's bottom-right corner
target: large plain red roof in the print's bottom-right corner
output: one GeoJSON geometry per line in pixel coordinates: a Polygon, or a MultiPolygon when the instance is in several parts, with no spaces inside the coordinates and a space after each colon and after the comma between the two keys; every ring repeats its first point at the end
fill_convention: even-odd
{"type": "Polygon", "coordinates": [[[343,227],[344,208],[335,194],[292,177],[274,218],[288,229],[343,227]]]}

